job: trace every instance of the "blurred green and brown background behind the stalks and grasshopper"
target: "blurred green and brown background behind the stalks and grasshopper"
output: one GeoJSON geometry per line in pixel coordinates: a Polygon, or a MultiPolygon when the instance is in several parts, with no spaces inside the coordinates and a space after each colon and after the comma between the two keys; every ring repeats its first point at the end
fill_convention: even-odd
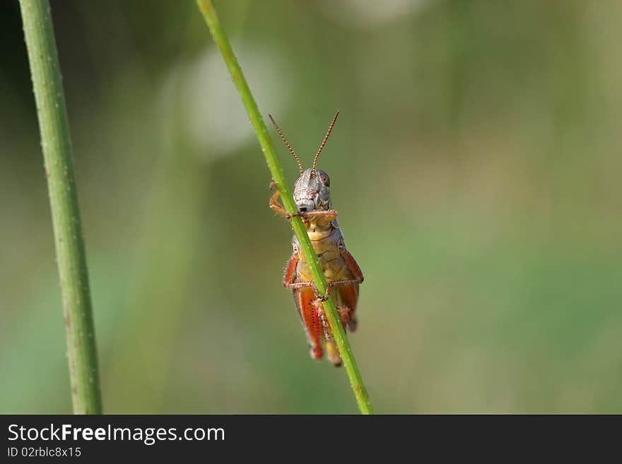
{"type": "MultiPolygon", "coordinates": [[[[622,412],[622,4],[216,1],[331,176],[377,412],[622,412]]],[[[0,412],[70,412],[16,1],[0,4],[0,412]]],[[[194,1],[52,1],[105,412],[356,413],[194,1]]],[[[294,160],[273,131],[288,178],[294,160]]]]}

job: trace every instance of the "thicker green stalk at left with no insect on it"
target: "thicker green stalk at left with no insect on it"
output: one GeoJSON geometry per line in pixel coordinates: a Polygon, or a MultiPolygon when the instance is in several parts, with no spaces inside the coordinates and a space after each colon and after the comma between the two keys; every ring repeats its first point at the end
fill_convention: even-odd
{"type": "Polygon", "coordinates": [[[74,414],[101,414],[93,310],[52,14],[47,0],[20,0],[20,9],[52,210],[74,414]]]}

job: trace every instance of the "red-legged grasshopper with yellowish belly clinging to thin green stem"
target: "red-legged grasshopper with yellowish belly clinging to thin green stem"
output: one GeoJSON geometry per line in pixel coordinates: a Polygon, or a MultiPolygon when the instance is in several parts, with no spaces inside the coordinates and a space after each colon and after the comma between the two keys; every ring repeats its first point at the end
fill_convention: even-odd
{"type": "MultiPolygon", "coordinates": [[[[353,256],[346,250],[344,237],[337,225],[337,212],[331,209],[330,179],[326,172],[315,167],[319,154],[333,129],[339,112],[336,112],[331,125],[324,136],[322,145],[309,169],[303,169],[300,159],[294,153],[293,148],[283,136],[281,128],[271,114],[269,117],[276,127],[278,134],[289,148],[291,154],[298,162],[300,176],[294,186],[294,201],[298,206],[295,216],[300,216],[307,229],[307,234],[317,254],[319,266],[327,280],[327,295],[319,295],[317,287],[313,283],[305,256],[300,253],[300,245],[295,235],[292,239],[293,254],[287,263],[283,285],[293,290],[294,302],[303,321],[310,346],[310,354],[313,359],[322,359],[322,343],[326,347],[328,358],[335,366],[341,366],[341,356],[333,340],[331,328],[324,314],[322,302],[326,301],[334,290],[336,307],[339,311],[341,323],[344,328],[351,332],[356,330],[356,306],[358,303],[358,285],[363,282],[363,273],[353,256]]],[[[276,187],[274,182],[271,187],[276,187]]],[[[280,192],[276,190],[270,198],[269,206],[283,218],[291,219],[293,215],[287,213],[283,205],[278,203],[280,192]]]]}

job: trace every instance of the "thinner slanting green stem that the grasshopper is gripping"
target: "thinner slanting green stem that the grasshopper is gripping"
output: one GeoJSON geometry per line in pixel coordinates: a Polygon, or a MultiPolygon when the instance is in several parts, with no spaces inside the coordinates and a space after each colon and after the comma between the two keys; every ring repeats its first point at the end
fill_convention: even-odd
{"type": "MultiPolygon", "coordinates": [[[[201,13],[203,13],[203,17],[209,27],[214,42],[216,42],[218,48],[221,49],[221,53],[225,59],[225,64],[233,77],[233,81],[235,82],[237,91],[240,93],[240,97],[242,97],[242,102],[244,102],[252,126],[257,133],[257,138],[259,138],[259,145],[262,145],[262,150],[264,152],[264,156],[266,157],[266,161],[268,162],[272,179],[276,182],[278,190],[281,191],[283,206],[285,206],[288,213],[295,213],[298,211],[298,208],[294,203],[292,193],[286,182],[281,163],[278,161],[278,157],[276,156],[276,150],[274,149],[271,138],[268,136],[266,125],[264,124],[264,120],[259,113],[257,103],[252,97],[244,74],[242,74],[242,69],[240,69],[240,65],[237,64],[237,59],[235,58],[235,54],[233,54],[227,35],[225,35],[225,31],[223,30],[220,20],[218,20],[216,10],[210,0],[196,0],[196,4],[199,6],[201,13]]],[[[296,237],[298,237],[298,242],[300,242],[300,250],[305,255],[311,270],[313,282],[315,282],[317,290],[319,290],[322,295],[326,295],[326,280],[324,279],[322,269],[319,267],[317,256],[311,246],[311,242],[309,236],[307,235],[307,230],[303,225],[303,221],[298,217],[294,217],[291,220],[291,224],[296,237]]],[[[346,367],[348,377],[350,378],[350,383],[352,390],[354,391],[354,395],[356,396],[358,408],[363,414],[373,414],[369,396],[367,390],[365,389],[365,384],[363,383],[363,378],[360,376],[360,372],[358,371],[356,360],[354,359],[354,355],[350,349],[346,333],[343,326],[341,326],[341,321],[332,299],[324,302],[324,309],[331,325],[337,347],[339,347],[341,359],[344,361],[344,366],[346,367]]]]}

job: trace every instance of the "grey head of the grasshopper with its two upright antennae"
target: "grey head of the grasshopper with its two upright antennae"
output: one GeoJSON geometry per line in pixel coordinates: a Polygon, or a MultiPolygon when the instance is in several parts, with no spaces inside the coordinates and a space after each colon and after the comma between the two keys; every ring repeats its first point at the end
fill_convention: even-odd
{"type": "Polygon", "coordinates": [[[324,149],[324,145],[326,145],[326,141],[328,140],[328,136],[333,130],[333,126],[335,125],[335,121],[337,120],[337,116],[339,116],[339,111],[335,113],[335,117],[331,122],[331,125],[328,128],[328,132],[326,136],[324,136],[324,140],[322,141],[322,145],[319,145],[319,150],[315,154],[315,158],[313,159],[313,165],[309,169],[303,169],[303,164],[300,162],[298,155],[294,153],[293,148],[287,141],[287,138],[283,136],[283,132],[281,128],[278,127],[276,121],[272,117],[271,114],[268,115],[274,127],[276,127],[276,131],[278,131],[278,135],[283,138],[283,142],[289,148],[291,154],[295,158],[298,163],[298,168],[300,169],[300,176],[296,179],[294,185],[294,201],[298,206],[298,210],[301,213],[308,213],[310,211],[319,211],[319,210],[329,210],[331,208],[330,201],[330,179],[328,174],[324,171],[320,171],[315,167],[317,165],[317,158],[319,158],[319,154],[322,153],[324,149]]]}

